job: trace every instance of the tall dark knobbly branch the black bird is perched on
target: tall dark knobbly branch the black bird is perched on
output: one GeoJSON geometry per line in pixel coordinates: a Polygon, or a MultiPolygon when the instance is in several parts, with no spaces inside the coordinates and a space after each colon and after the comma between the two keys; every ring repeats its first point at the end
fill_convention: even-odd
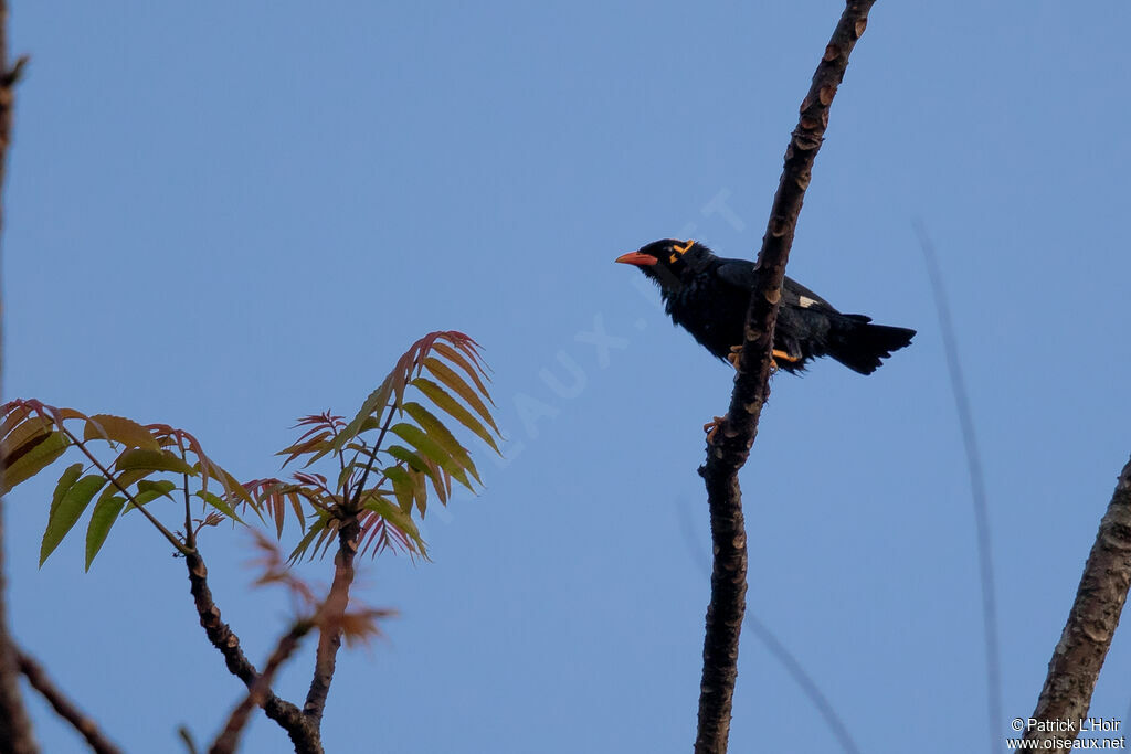
{"type": "Polygon", "coordinates": [[[824,54],[785,153],[785,166],[758,254],[759,279],[746,311],[731,406],[700,467],[710,506],[715,563],[707,607],[703,673],[699,695],[696,752],[725,752],[737,677],[739,634],[745,613],[746,532],[739,469],[746,462],[758,419],[769,396],[770,350],[782,300],[782,281],[813,161],[829,122],[829,105],[844,79],[848,55],[867,25],[874,0],[849,0],[824,54]]]}

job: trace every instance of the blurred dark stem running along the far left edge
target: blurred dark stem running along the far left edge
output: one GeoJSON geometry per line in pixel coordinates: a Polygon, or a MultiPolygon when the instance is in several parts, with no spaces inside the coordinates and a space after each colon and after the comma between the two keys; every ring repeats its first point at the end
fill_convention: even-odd
{"type": "MultiPolygon", "coordinates": [[[[3,188],[8,145],[11,142],[15,85],[19,79],[25,58],[8,68],[8,3],[0,0],[0,190],[3,188]]],[[[0,229],[3,227],[3,202],[0,200],[0,229]]],[[[0,317],[3,306],[0,305],[0,317]]],[[[3,322],[0,320],[0,374],[3,372],[3,322]]],[[[0,390],[2,393],[2,390],[0,390]]],[[[0,467],[0,473],[2,473],[0,467]]],[[[0,496],[0,751],[31,754],[37,751],[32,735],[32,722],[24,709],[19,693],[19,673],[16,648],[8,634],[7,582],[3,571],[3,497],[0,496]]]]}

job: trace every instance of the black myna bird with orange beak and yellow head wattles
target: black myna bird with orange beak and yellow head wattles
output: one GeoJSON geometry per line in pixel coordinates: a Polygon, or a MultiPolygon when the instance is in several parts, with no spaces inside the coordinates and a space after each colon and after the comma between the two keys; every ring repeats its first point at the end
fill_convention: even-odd
{"type": "MultiPolygon", "coordinates": [[[[710,353],[736,363],[754,262],[720,259],[694,241],[666,239],[616,261],[636,265],[661,288],[664,307],[676,324],[710,353]]],[[[805,286],[788,277],[774,330],[774,361],[792,373],[811,358],[831,356],[854,372],[871,374],[882,359],[907,346],[915,330],[871,324],[863,314],[841,314],[805,286]]]]}

